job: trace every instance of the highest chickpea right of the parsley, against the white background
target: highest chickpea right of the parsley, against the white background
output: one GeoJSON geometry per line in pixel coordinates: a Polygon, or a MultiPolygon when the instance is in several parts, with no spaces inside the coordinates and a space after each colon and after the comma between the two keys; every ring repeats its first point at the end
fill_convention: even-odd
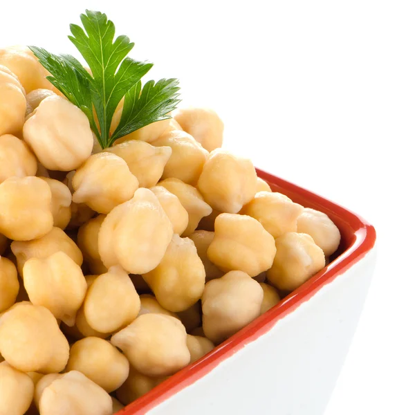
{"type": "Polygon", "coordinates": [[[221,147],[223,121],[212,109],[187,107],[174,111],[174,119],[208,151],[221,147]]]}

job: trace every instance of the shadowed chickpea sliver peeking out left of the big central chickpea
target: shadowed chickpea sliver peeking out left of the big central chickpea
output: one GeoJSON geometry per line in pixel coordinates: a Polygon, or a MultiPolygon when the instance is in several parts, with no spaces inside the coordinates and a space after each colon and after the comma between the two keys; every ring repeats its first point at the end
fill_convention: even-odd
{"type": "Polygon", "coordinates": [[[89,219],[77,232],[77,244],[82,251],[82,255],[89,269],[95,274],[107,272],[107,268],[102,264],[100,252],[98,252],[98,232],[100,232],[104,219],[104,214],[89,219]]]}

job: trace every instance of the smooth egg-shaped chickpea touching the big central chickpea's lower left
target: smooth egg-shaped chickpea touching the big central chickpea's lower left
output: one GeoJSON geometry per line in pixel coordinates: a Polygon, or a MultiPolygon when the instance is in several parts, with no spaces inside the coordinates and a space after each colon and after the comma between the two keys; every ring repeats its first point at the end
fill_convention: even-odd
{"type": "Polygon", "coordinates": [[[84,301],[86,321],[100,333],[111,333],[130,324],[140,311],[140,297],[129,275],[120,266],[109,268],[88,288],[84,301]]]}

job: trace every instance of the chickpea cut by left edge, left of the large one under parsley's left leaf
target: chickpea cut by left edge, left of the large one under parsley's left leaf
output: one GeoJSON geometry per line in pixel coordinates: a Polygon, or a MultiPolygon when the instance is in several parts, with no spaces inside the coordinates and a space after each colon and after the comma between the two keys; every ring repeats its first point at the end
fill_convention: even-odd
{"type": "Polygon", "coordinates": [[[0,136],[17,133],[24,124],[26,96],[17,77],[0,60],[0,136]]]}

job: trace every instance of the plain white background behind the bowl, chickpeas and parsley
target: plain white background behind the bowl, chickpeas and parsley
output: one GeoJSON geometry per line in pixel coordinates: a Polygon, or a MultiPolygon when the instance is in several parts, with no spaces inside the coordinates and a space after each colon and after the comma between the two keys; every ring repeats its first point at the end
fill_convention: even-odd
{"type": "MultiPolygon", "coordinates": [[[[325,415],[415,414],[412,1],[2,2],[0,44],[74,53],[107,12],[132,56],[213,107],[225,147],[374,223],[378,267],[325,415]]],[[[353,301],[353,298],[350,299],[353,301]]]]}

